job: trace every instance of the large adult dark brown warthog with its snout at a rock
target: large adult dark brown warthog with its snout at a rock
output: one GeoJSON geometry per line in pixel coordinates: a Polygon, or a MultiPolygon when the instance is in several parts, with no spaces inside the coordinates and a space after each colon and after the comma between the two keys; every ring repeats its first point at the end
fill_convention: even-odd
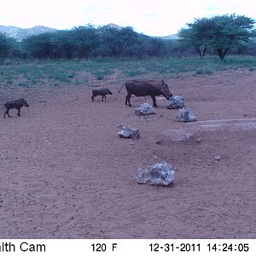
{"type": "Polygon", "coordinates": [[[125,82],[122,85],[119,92],[122,90],[123,86],[127,90],[127,96],[125,97],[125,105],[127,102],[131,107],[131,95],[135,96],[151,96],[154,107],[157,107],[155,102],[155,96],[165,96],[166,99],[169,99],[172,96],[172,92],[170,92],[168,84],[165,83],[164,80],[130,80],[125,82]]]}

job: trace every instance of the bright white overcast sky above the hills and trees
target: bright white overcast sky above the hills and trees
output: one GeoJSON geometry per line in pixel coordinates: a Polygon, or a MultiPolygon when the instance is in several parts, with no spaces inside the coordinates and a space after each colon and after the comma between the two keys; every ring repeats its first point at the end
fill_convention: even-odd
{"type": "Polygon", "coordinates": [[[114,23],[148,36],[177,33],[195,18],[246,15],[256,20],[255,0],[2,0],[0,25],[70,29],[114,23]]]}

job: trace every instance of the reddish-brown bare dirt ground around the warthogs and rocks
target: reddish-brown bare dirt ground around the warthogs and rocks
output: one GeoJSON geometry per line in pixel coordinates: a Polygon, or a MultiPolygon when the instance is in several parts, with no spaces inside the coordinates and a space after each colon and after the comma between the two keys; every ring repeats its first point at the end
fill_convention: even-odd
{"type": "Polygon", "coordinates": [[[197,122],[177,122],[165,99],[135,115],[151,98],[126,107],[114,80],[107,102],[85,86],[2,90],[31,106],[0,119],[0,237],[256,238],[255,71],[166,82],[197,122]],[[119,124],[142,137],[119,138],[119,124]],[[137,183],[137,168],[161,161],[171,186],[137,183]]]}

